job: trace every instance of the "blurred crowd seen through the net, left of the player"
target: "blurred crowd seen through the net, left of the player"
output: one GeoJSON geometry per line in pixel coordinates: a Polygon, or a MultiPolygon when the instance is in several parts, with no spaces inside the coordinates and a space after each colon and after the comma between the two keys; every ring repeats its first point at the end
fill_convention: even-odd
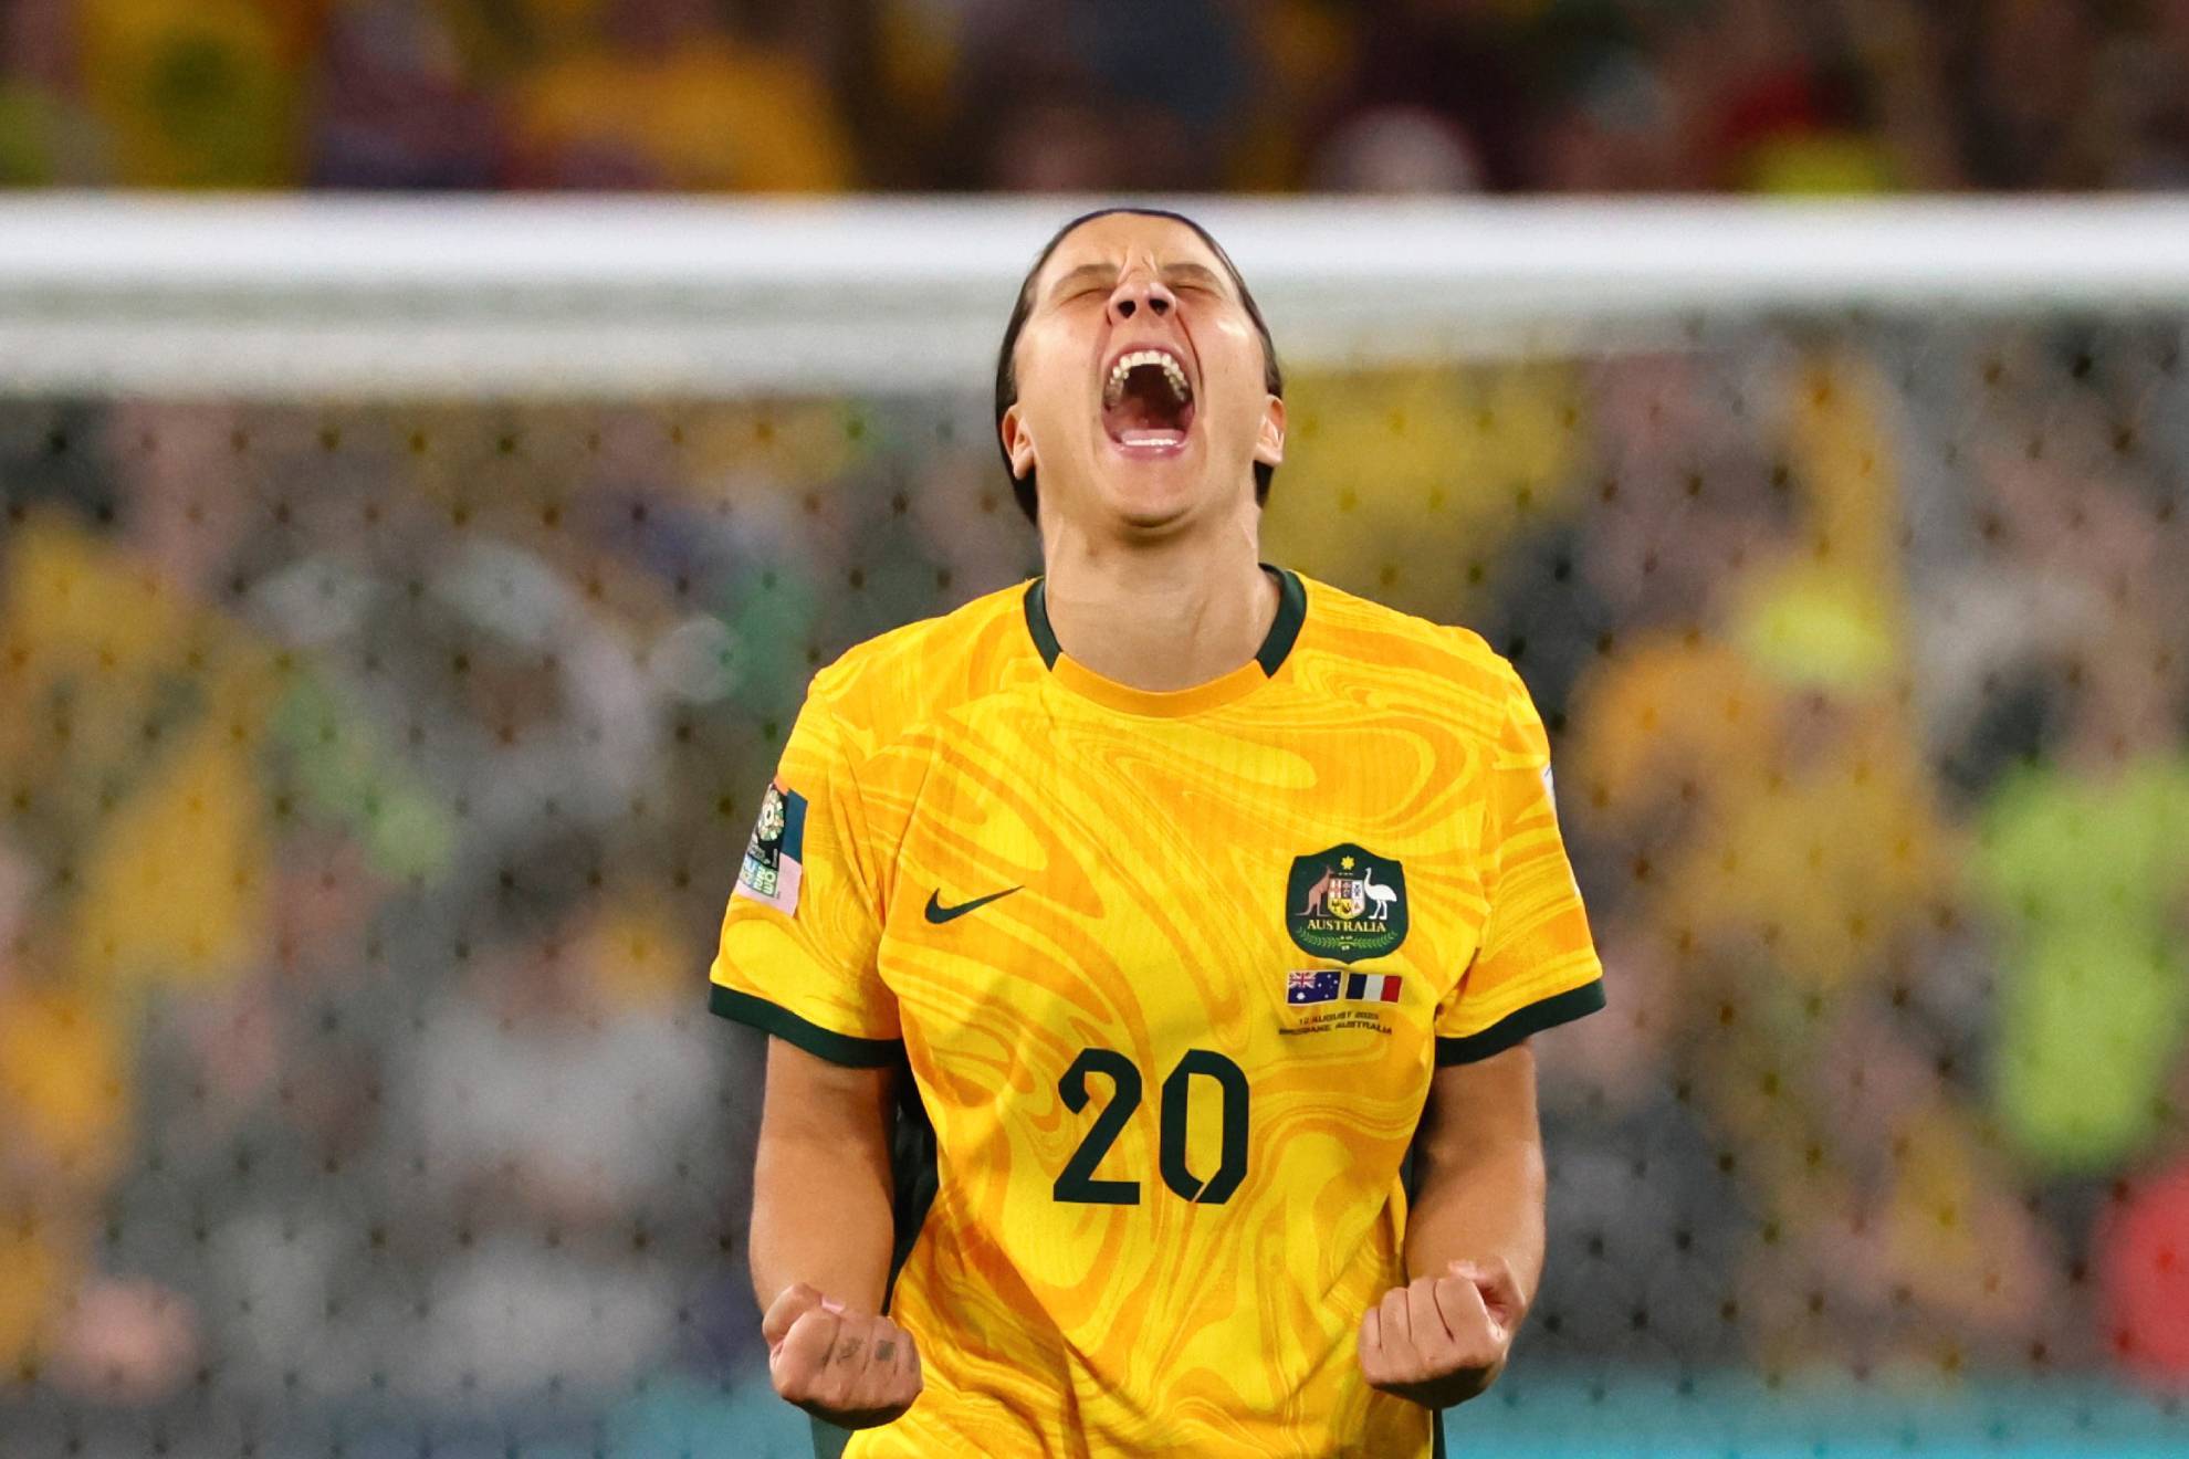
{"type": "Polygon", "coordinates": [[[749,1376],[705,962],[812,669],[1027,567],[939,429],[0,402],[7,1452],[598,1452],[749,1376]]]}

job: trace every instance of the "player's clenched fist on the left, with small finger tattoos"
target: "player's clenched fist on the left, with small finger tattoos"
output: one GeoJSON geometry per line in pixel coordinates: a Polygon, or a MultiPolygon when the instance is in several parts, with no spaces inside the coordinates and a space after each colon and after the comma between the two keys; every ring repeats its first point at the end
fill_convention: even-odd
{"type": "Polygon", "coordinates": [[[760,1319],[775,1391],[838,1428],[873,1428],[919,1398],[913,1334],[797,1282],[760,1319]]]}

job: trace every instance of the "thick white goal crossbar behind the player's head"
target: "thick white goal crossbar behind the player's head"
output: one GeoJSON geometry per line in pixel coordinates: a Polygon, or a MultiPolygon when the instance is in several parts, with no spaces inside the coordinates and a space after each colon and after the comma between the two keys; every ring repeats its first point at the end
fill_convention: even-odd
{"type": "MultiPolygon", "coordinates": [[[[1081,199],[24,195],[0,394],[981,392],[1081,199]]],[[[2182,311],[2189,201],[1158,199],[1289,363],[1440,359],[1769,311],[2182,311]]]]}

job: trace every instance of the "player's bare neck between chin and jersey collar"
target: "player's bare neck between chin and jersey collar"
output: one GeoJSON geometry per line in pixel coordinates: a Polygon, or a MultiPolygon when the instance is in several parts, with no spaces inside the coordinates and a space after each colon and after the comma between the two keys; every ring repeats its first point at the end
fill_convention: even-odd
{"type": "Polygon", "coordinates": [[[1079,665],[1132,689],[1206,685],[1248,663],[1276,621],[1252,516],[1154,540],[1044,532],[1049,626],[1079,665]]]}

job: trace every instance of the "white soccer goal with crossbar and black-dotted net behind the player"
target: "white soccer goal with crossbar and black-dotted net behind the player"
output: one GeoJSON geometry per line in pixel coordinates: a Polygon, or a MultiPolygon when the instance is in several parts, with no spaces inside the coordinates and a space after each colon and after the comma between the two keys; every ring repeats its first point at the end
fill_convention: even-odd
{"type": "MultiPolygon", "coordinates": [[[[1453,1452],[2169,1452],[2189,208],[1184,210],[1605,952],[1453,1452]]],[[[0,208],[9,1455],[808,1452],[700,969],[814,667],[1038,571],[1073,212],[0,208]]]]}

